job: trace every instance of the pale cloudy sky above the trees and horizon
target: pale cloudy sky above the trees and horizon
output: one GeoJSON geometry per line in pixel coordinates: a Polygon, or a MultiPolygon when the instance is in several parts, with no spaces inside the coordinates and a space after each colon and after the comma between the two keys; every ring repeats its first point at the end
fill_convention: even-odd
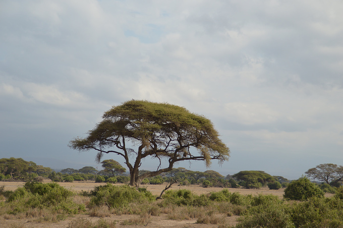
{"type": "Polygon", "coordinates": [[[100,170],[95,151],[69,141],[136,99],[210,119],[231,150],[209,168],[224,176],[294,180],[343,165],[341,9],[340,0],[0,1],[0,157],[100,170]]]}

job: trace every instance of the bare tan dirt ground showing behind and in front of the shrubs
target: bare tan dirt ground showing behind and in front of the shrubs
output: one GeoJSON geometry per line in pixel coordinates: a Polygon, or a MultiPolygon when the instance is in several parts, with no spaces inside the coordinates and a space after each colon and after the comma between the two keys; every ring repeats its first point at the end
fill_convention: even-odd
{"type": "MultiPolygon", "coordinates": [[[[49,181],[46,181],[49,182],[49,181]]],[[[0,186],[5,186],[6,190],[14,191],[18,187],[22,187],[25,183],[23,182],[0,182],[0,186]]],[[[93,190],[95,186],[104,185],[105,183],[94,183],[94,182],[73,182],[73,183],[59,183],[61,186],[73,190],[73,191],[90,191],[93,190]]],[[[159,196],[161,191],[165,188],[166,184],[163,185],[142,185],[141,187],[147,188],[153,195],[159,196]]],[[[194,194],[201,195],[203,193],[217,192],[221,191],[222,188],[202,188],[199,185],[190,185],[190,186],[172,186],[172,190],[179,189],[189,189],[194,194]]],[[[283,189],[279,190],[269,190],[267,187],[251,190],[251,189],[231,189],[230,192],[239,192],[242,195],[258,195],[258,194],[272,194],[282,198],[283,189]]],[[[223,215],[224,216],[224,215],[223,215]]],[[[190,220],[170,220],[167,219],[167,215],[161,214],[159,216],[151,216],[151,220],[146,225],[120,225],[120,222],[123,220],[139,217],[139,215],[111,215],[110,217],[105,217],[107,221],[115,220],[117,222],[116,227],[177,227],[177,228],[209,228],[209,227],[218,227],[218,224],[198,224],[196,219],[190,220]]],[[[23,218],[23,219],[5,219],[4,216],[0,216],[0,227],[68,227],[69,223],[77,218],[87,218],[92,222],[96,222],[98,217],[90,217],[89,215],[75,215],[74,217],[68,217],[67,219],[60,222],[39,222],[34,218],[23,218]]],[[[235,225],[237,216],[225,217],[226,222],[230,222],[231,225],[235,225]]]]}

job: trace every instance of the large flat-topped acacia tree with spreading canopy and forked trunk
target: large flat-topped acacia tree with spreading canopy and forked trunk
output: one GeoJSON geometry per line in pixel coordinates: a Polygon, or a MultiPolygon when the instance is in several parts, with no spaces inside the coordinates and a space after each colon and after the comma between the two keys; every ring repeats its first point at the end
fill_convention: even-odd
{"type": "Polygon", "coordinates": [[[212,159],[221,164],[230,155],[210,120],[177,105],[131,100],[113,106],[102,119],[86,138],[75,138],[69,146],[98,151],[98,162],[103,153],[122,156],[130,170],[130,185],[135,187],[144,178],[172,170],[178,161],[202,160],[208,167],[212,159]],[[136,148],[128,147],[129,142],[136,148]],[[156,158],[159,164],[155,171],[140,175],[146,157],[156,158]],[[165,158],[167,165],[162,168],[165,158]]]}

